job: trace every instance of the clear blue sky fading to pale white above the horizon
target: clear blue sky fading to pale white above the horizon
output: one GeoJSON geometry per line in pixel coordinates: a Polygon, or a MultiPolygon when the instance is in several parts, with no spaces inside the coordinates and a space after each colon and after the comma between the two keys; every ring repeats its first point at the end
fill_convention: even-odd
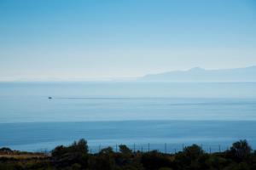
{"type": "Polygon", "coordinates": [[[0,0],[0,81],[251,65],[253,0],[0,0]]]}

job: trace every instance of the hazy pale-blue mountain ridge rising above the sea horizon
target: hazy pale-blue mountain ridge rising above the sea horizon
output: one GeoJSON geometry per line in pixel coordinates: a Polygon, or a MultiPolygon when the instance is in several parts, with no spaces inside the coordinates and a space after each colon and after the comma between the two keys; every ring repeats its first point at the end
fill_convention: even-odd
{"type": "Polygon", "coordinates": [[[148,74],[138,80],[152,82],[256,82],[256,66],[223,70],[205,70],[195,67],[188,71],[148,74]]]}

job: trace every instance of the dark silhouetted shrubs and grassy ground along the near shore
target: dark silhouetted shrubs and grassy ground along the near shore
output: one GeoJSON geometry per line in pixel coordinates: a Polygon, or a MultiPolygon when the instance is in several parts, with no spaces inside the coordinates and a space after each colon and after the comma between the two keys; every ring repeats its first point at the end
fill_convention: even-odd
{"type": "Polygon", "coordinates": [[[0,169],[67,169],[67,170],[255,170],[256,152],[240,140],[224,152],[208,154],[197,144],[185,147],[176,154],[157,150],[132,152],[119,145],[119,152],[111,147],[89,154],[86,140],[80,139],[69,146],[57,146],[49,156],[0,149],[0,169]],[[22,159],[19,156],[25,156],[22,159]],[[15,157],[16,156],[16,157],[15,157]]]}

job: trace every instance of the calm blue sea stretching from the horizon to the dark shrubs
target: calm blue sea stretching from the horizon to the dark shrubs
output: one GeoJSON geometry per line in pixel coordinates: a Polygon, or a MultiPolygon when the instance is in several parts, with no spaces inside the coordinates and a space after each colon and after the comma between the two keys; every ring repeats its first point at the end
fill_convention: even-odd
{"type": "Polygon", "coordinates": [[[87,139],[92,151],[256,148],[256,83],[2,82],[0,147],[50,150],[87,139]],[[48,99],[51,96],[53,99],[48,99]]]}

